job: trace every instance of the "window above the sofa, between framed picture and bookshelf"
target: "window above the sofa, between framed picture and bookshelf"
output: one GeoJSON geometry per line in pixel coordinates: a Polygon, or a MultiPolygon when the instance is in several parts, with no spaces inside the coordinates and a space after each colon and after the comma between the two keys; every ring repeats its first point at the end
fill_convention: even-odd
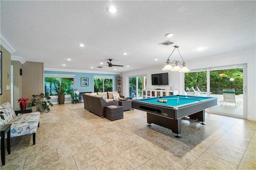
{"type": "Polygon", "coordinates": [[[114,77],[94,76],[94,92],[113,91],[114,77]]]}

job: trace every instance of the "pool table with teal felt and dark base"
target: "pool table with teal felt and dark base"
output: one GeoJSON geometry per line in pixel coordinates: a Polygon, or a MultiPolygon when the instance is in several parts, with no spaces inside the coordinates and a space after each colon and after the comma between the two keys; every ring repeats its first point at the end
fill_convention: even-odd
{"type": "Polygon", "coordinates": [[[147,112],[147,126],[152,123],[168,128],[182,138],[181,118],[189,117],[204,123],[204,109],[217,105],[216,97],[172,95],[132,100],[132,108],[147,112]],[[162,101],[166,101],[166,103],[162,101]],[[159,102],[160,101],[160,102],[159,102]]]}

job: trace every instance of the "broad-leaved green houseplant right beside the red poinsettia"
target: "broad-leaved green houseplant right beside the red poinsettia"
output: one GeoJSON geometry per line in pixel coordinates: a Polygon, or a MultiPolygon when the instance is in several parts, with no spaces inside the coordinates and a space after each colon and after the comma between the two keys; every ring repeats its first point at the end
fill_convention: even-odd
{"type": "Polygon", "coordinates": [[[33,98],[28,102],[27,107],[37,107],[37,109],[35,109],[34,111],[40,111],[40,107],[42,107],[42,110],[44,111],[50,111],[49,106],[53,106],[50,101],[43,101],[43,99],[51,99],[51,97],[49,97],[48,95],[44,95],[44,93],[41,93],[40,95],[32,95],[32,97],[33,98]]]}

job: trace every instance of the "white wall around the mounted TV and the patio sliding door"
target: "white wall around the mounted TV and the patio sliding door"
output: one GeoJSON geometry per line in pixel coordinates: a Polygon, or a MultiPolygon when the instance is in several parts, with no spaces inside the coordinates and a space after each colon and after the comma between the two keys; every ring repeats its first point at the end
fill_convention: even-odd
{"type": "MultiPolygon", "coordinates": [[[[185,58],[186,61],[186,58],[185,58]]],[[[126,71],[122,72],[122,95],[128,96],[129,95],[129,88],[128,88],[128,77],[136,76],[136,75],[146,75],[147,76],[147,85],[150,89],[170,89],[172,85],[174,85],[175,90],[179,90],[180,94],[183,94],[184,91],[184,73],[179,72],[172,72],[168,71],[169,73],[169,86],[152,86],[151,85],[151,74],[155,73],[164,73],[166,71],[162,71],[164,67],[165,61],[163,61],[163,65],[154,68],[148,69],[138,69],[133,71],[126,71]],[[181,91],[182,89],[182,91],[181,91]]],[[[219,67],[225,65],[236,65],[236,64],[247,64],[247,119],[256,121],[256,51],[242,51],[241,53],[229,53],[225,55],[218,55],[212,56],[207,58],[200,58],[194,59],[190,61],[186,61],[186,66],[190,70],[196,69],[206,69],[210,67],[219,67]]],[[[246,106],[246,103],[244,103],[246,106]]]]}

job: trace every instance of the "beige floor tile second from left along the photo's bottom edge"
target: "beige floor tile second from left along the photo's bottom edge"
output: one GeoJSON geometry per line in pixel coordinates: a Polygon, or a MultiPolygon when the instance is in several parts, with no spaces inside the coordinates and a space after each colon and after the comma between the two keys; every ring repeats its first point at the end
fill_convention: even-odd
{"type": "Polygon", "coordinates": [[[26,157],[24,164],[24,170],[30,170],[33,168],[38,168],[39,166],[44,166],[58,160],[57,150],[46,150],[38,154],[30,155],[26,157]]]}

